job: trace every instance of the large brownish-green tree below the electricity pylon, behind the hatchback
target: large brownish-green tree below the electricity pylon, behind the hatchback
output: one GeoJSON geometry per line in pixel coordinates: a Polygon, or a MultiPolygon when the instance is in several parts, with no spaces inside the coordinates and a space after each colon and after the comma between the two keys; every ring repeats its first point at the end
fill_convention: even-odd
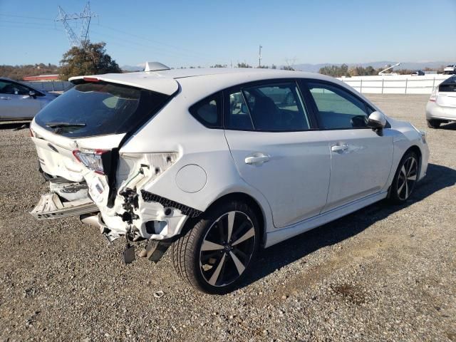
{"type": "Polygon", "coordinates": [[[96,75],[101,73],[121,73],[118,63],[106,53],[106,43],[86,43],[85,46],[73,47],[63,53],[60,61],[60,78],[68,80],[73,76],[96,75]]]}

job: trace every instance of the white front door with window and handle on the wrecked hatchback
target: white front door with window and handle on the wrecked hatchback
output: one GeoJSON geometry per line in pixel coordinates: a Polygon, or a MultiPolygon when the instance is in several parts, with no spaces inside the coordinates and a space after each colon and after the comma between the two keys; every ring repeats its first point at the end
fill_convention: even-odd
{"type": "Polygon", "coordinates": [[[393,137],[367,127],[373,109],[335,83],[303,83],[331,154],[323,212],[385,191],[393,162],[393,137]]]}

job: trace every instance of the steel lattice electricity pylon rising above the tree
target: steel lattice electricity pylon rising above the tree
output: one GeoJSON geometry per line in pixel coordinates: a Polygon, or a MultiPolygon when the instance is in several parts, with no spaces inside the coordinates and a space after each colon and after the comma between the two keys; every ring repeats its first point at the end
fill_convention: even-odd
{"type": "Polygon", "coordinates": [[[88,41],[88,28],[90,26],[90,19],[95,18],[97,14],[90,11],[90,1],[87,2],[86,7],[80,14],[66,14],[65,11],[58,6],[58,16],[56,21],[61,21],[63,24],[63,28],[65,28],[66,35],[68,36],[68,41],[70,42],[70,46],[78,46],[80,48],[86,46],[86,42],[88,41]],[[79,31],[79,36],[76,36],[74,33],[73,28],[71,28],[68,21],[71,20],[81,20],[81,30],[79,31]]]}

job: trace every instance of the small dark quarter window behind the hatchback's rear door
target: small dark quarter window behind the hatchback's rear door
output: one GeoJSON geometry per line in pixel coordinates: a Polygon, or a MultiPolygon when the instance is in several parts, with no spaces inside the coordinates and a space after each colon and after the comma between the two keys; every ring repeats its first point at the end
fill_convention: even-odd
{"type": "Polygon", "coordinates": [[[216,93],[195,103],[190,113],[207,128],[222,128],[222,95],[216,93]]]}

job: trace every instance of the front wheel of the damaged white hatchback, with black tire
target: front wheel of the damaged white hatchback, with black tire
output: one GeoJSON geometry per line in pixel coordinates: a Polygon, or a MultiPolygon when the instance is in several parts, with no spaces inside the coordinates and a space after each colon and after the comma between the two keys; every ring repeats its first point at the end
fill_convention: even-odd
{"type": "Polygon", "coordinates": [[[390,187],[390,202],[403,204],[410,198],[418,180],[419,161],[418,155],[413,151],[406,152],[400,160],[390,187]]]}

